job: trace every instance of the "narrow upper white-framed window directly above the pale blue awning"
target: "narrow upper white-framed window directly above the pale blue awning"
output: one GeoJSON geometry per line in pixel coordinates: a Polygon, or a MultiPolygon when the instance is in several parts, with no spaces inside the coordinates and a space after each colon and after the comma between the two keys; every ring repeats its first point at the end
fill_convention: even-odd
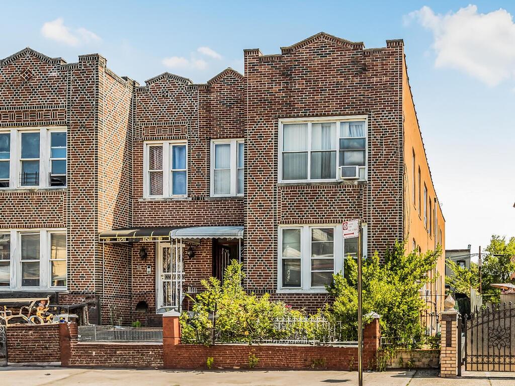
{"type": "Polygon", "coordinates": [[[211,141],[211,196],[243,196],[245,143],[243,139],[211,141]]]}

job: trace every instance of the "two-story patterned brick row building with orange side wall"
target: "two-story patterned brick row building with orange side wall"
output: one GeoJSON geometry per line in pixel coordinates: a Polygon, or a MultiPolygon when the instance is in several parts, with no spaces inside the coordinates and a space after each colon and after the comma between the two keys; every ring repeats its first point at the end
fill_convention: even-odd
{"type": "MultiPolygon", "coordinates": [[[[365,255],[444,248],[402,40],[319,33],[244,61],[143,86],[97,54],[0,61],[0,296],[98,296],[102,322],[151,323],[235,258],[249,291],[313,310],[356,253],[346,220],[365,255]]],[[[442,254],[436,311],[443,273],[442,254]]]]}

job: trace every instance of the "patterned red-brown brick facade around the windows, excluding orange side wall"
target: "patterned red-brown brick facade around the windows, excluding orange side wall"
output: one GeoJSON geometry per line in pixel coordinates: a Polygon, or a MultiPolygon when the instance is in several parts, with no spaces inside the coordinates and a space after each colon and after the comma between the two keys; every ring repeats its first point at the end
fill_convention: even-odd
{"type": "MultiPolygon", "coordinates": [[[[229,68],[193,84],[165,73],[141,86],[96,54],[66,64],[26,48],[0,61],[0,129],[66,127],[68,182],[0,189],[0,230],[66,229],[60,301],[100,296],[103,323],[156,317],[155,244],[98,242],[127,227],[244,226],[245,286],[314,309],[327,295],[276,291],[279,225],[359,218],[370,253],[405,236],[403,56],[402,41],[365,49],[320,33],[278,55],[245,50],[245,76],[229,68]],[[354,115],[368,120],[367,182],[278,183],[278,119],[354,115]],[[236,138],[245,195],[211,197],[211,140],[236,138]],[[175,139],[187,141],[187,197],[144,198],[144,142],[175,139]]],[[[212,248],[202,239],[185,260],[184,291],[212,274],[212,248]]]]}

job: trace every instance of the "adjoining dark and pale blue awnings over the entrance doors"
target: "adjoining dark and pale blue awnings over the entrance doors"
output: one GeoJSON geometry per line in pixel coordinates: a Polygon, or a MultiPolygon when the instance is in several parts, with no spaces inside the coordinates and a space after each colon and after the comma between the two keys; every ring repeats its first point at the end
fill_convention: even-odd
{"type": "Polygon", "coordinates": [[[243,226],[140,227],[101,232],[99,242],[170,241],[172,239],[242,239],[243,226]]]}

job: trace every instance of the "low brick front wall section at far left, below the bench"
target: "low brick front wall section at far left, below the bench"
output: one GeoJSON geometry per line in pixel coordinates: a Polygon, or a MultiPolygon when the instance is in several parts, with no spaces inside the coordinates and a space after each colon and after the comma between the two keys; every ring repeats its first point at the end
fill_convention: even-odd
{"type": "Polygon", "coordinates": [[[59,362],[59,325],[13,325],[7,328],[12,363],[59,362]]]}

